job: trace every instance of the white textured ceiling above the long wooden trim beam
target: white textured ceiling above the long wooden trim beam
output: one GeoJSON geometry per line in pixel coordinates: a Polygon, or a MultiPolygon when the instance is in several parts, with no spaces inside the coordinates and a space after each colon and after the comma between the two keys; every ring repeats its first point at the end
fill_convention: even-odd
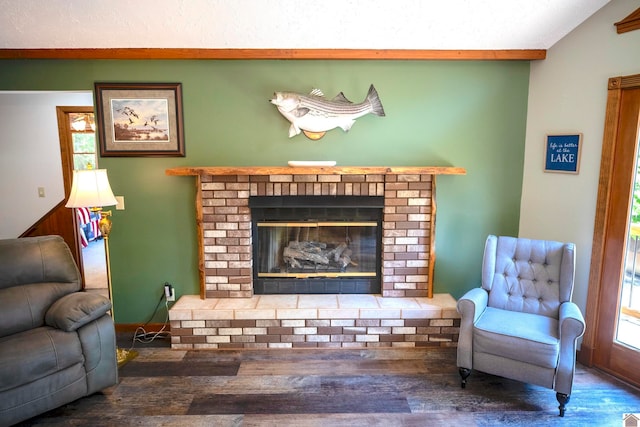
{"type": "Polygon", "coordinates": [[[548,49],[609,1],[0,0],[0,49],[548,49]]]}

